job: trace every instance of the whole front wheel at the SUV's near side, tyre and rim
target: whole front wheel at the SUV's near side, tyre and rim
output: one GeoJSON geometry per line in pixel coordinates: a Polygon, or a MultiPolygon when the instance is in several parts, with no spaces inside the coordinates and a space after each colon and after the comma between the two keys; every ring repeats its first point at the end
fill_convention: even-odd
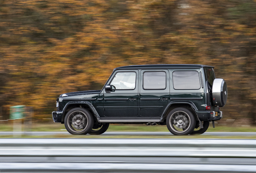
{"type": "Polygon", "coordinates": [[[68,111],[64,124],[72,135],[85,135],[93,128],[93,116],[86,109],[73,108],[68,111]]]}

